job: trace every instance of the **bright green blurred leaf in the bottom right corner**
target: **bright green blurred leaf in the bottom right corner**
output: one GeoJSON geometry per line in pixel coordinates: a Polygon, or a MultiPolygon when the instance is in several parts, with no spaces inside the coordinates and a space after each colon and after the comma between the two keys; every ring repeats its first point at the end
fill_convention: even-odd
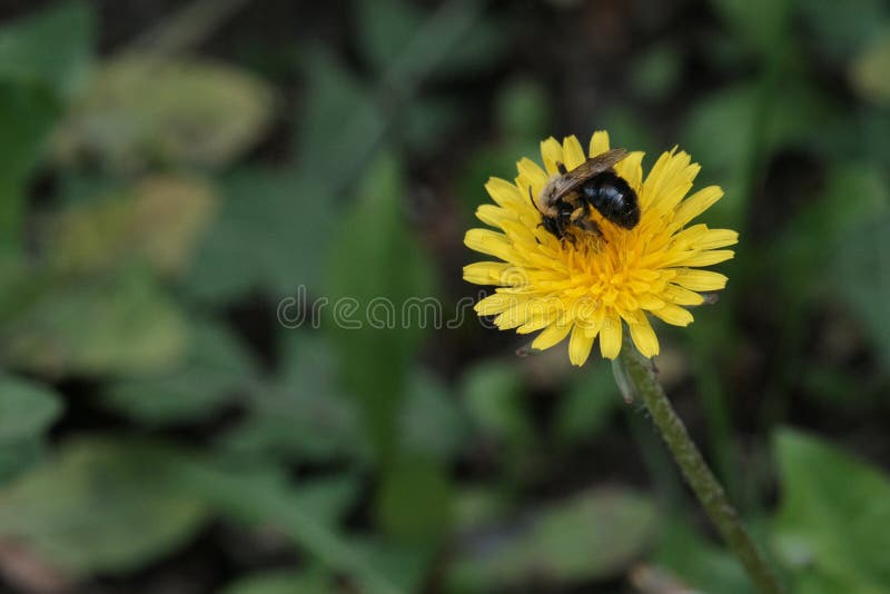
{"type": "Polygon", "coordinates": [[[813,571],[843,592],[882,592],[890,583],[890,478],[803,433],[775,438],[782,504],[779,552],[801,574],[813,571]]]}

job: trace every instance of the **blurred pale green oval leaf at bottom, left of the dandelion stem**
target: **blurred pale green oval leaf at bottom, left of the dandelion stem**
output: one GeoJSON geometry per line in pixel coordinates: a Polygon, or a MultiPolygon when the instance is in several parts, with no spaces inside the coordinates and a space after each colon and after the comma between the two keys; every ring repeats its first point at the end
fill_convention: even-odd
{"type": "Polygon", "coordinates": [[[448,576],[453,592],[571,584],[620,574],[650,543],[655,507],[623,488],[580,493],[531,519],[465,539],[448,576]]]}

